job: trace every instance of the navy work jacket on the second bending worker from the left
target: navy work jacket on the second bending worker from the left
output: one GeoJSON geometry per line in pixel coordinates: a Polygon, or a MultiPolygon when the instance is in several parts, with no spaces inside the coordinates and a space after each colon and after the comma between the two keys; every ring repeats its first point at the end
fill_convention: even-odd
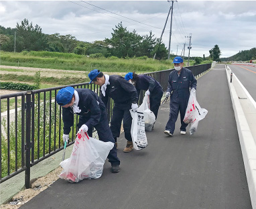
{"type": "Polygon", "coordinates": [[[107,107],[108,96],[113,98],[115,104],[124,104],[131,108],[131,103],[137,103],[137,90],[133,84],[130,84],[122,76],[109,76],[109,85],[107,85],[106,94],[101,94],[105,106],[107,107]],[[127,104],[127,105],[126,105],[127,104]]]}

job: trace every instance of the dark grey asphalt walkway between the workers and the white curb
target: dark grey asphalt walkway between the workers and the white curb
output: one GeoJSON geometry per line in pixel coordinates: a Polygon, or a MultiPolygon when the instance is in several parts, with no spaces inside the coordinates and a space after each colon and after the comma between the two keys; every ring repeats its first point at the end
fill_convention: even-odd
{"type": "Polygon", "coordinates": [[[58,180],[21,208],[252,208],[224,65],[198,79],[196,96],[208,115],[194,135],[180,135],[180,119],[164,135],[166,102],[145,150],[123,153],[118,139],[119,173],[106,162],[98,180],[58,180]]]}

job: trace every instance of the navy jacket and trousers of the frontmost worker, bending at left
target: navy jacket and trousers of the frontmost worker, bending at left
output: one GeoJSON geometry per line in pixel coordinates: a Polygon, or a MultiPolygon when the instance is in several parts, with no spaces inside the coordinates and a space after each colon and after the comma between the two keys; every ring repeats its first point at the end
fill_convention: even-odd
{"type": "MultiPolygon", "coordinates": [[[[76,88],[75,90],[78,92],[78,107],[81,110],[80,113],[75,113],[79,115],[77,124],[78,129],[80,129],[80,127],[84,124],[87,125],[87,133],[90,137],[92,137],[92,129],[95,127],[101,141],[111,141],[112,143],[115,143],[111,129],[109,128],[105,104],[101,98],[99,98],[95,92],[87,88],[76,88]]],[[[64,134],[69,134],[70,127],[72,127],[74,124],[73,110],[71,107],[62,107],[62,111],[64,134]]],[[[117,157],[117,147],[114,146],[113,149],[111,149],[108,159],[111,165],[120,164],[117,157]]]]}

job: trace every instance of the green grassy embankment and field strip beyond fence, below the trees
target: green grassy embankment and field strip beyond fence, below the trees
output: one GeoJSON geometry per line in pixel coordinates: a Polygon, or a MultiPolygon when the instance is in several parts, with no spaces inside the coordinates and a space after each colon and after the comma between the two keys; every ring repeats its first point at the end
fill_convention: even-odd
{"type": "MultiPolygon", "coordinates": [[[[61,71],[46,75],[44,74],[44,69],[40,70],[42,74],[41,83],[55,85],[87,82],[88,72],[95,68],[103,72],[121,75],[133,71],[143,73],[173,68],[172,60],[153,60],[151,58],[145,60],[141,58],[119,59],[116,57],[88,58],[77,54],[58,52],[0,52],[0,65],[74,71],[69,74],[61,71]],[[76,74],[76,72],[80,73],[76,74]]],[[[3,68],[0,70],[2,72],[5,71],[4,74],[0,75],[0,80],[34,82],[34,77],[27,74],[27,70],[3,68]]]]}

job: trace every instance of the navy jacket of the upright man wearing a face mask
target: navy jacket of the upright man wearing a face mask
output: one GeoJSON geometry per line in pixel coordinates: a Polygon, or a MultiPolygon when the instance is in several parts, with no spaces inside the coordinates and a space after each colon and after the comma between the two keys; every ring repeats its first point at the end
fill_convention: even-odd
{"type": "Polygon", "coordinates": [[[176,95],[174,97],[188,98],[190,96],[190,88],[196,89],[196,84],[197,80],[191,70],[182,68],[180,76],[178,76],[177,70],[173,70],[169,74],[167,91],[176,95]]]}

